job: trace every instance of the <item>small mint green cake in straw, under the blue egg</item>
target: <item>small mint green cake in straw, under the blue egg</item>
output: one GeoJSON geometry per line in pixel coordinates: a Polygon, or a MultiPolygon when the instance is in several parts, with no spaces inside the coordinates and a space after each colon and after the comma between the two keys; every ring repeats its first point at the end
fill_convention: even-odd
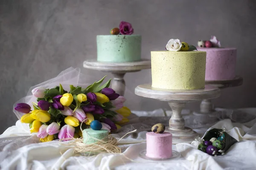
{"type": "Polygon", "coordinates": [[[103,139],[105,137],[108,137],[108,130],[102,129],[102,130],[93,130],[93,129],[84,129],[83,130],[83,138],[85,144],[92,144],[95,142],[98,142],[98,140],[93,139],[103,139]]]}

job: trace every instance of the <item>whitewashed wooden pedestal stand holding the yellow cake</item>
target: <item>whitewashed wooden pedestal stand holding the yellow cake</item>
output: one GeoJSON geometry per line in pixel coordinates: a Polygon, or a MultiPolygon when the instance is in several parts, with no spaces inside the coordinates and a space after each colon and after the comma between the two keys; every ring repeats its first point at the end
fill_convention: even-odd
{"type": "Polygon", "coordinates": [[[167,132],[172,133],[173,144],[191,143],[198,137],[198,133],[189,127],[185,127],[185,121],[181,115],[186,102],[196,102],[203,99],[214,99],[220,96],[220,89],[211,85],[205,85],[198,90],[169,90],[153,88],[151,84],[139,85],[135,88],[135,94],[146,98],[168,102],[172,108],[172,117],[169,120],[167,132]]]}

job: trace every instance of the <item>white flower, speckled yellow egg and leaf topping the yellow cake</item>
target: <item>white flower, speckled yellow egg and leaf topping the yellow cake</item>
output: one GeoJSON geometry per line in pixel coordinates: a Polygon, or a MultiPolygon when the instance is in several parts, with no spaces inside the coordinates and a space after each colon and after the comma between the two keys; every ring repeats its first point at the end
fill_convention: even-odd
{"type": "Polygon", "coordinates": [[[179,39],[171,39],[166,44],[168,51],[194,51],[197,50],[195,46],[189,45],[186,42],[180,42],[179,39]]]}

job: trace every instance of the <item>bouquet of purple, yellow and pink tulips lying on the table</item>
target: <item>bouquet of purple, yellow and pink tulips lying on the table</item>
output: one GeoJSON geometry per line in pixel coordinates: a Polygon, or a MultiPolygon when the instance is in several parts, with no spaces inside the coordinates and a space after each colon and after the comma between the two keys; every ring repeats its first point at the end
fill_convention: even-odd
{"type": "Polygon", "coordinates": [[[99,120],[102,129],[109,132],[119,129],[129,121],[131,111],[123,106],[125,97],[109,88],[111,79],[101,85],[105,77],[87,88],[70,85],[69,91],[61,84],[51,89],[35,88],[32,94],[38,102],[32,102],[33,110],[27,103],[18,103],[15,111],[23,113],[20,121],[28,123],[30,132],[37,133],[41,142],[78,138],[82,136],[80,126],[90,128],[93,120],[99,120]]]}

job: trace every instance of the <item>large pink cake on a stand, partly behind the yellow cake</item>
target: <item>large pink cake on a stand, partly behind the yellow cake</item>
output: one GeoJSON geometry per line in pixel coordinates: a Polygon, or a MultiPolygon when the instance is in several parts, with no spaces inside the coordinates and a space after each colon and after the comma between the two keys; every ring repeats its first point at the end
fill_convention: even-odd
{"type": "Polygon", "coordinates": [[[229,80],[236,77],[236,48],[201,48],[206,51],[205,80],[229,80]]]}

